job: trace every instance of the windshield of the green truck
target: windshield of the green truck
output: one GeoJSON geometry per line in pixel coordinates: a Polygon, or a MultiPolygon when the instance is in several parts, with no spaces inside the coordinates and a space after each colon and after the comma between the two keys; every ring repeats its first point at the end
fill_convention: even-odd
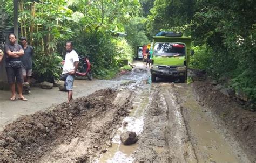
{"type": "Polygon", "coordinates": [[[156,43],[154,45],[155,56],[184,56],[185,45],[180,43],[156,43]]]}

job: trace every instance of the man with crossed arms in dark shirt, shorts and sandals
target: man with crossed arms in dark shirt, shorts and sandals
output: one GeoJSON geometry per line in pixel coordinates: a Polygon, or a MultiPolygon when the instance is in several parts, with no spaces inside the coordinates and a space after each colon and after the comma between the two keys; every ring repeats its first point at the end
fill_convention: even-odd
{"type": "Polygon", "coordinates": [[[9,43],[4,45],[5,51],[5,61],[6,61],[6,74],[7,80],[11,89],[12,96],[10,97],[11,101],[16,99],[15,93],[15,77],[17,81],[18,87],[18,99],[22,101],[28,101],[22,95],[22,83],[23,83],[23,76],[22,76],[22,68],[21,68],[21,56],[24,55],[24,51],[21,45],[16,44],[16,36],[13,33],[10,33],[9,36],[9,43]]]}

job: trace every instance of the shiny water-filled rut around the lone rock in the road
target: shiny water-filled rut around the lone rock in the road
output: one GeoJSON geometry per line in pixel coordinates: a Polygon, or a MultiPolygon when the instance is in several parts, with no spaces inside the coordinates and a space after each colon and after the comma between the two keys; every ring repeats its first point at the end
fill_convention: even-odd
{"type": "Polygon", "coordinates": [[[133,162],[133,153],[137,150],[138,144],[125,146],[121,143],[120,134],[125,131],[136,132],[137,135],[142,133],[144,125],[144,110],[149,103],[149,90],[142,90],[134,98],[133,109],[130,115],[125,117],[123,122],[127,122],[127,126],[121,126],[114,138],[112,139],[112,147],[106,153],[103,153],[96,162],[133,162]]]}

